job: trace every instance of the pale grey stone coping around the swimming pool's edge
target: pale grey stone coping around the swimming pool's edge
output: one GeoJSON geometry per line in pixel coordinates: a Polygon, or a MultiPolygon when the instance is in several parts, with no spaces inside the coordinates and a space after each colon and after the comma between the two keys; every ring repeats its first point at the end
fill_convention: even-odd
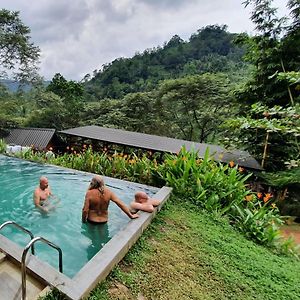
{"type": "MultiPolygon", "coordinates": [[[[69,170],[77,172],[77,170],[69,170]]],[[[92,174],[89,172],[83,173],[92,174]]],[[[111,177],[109,178],[114,179],[111,177]]],[[[147,185],[140,184],[140,186],[147,185]]],[[[148,187],[155,188],[151,186],[148,187]]],[[[131,246],[142,235],[151,220],[170,197],[171,192],[172,188],[170,187],[164,186],[159,189],[153,196],[153,198],[158,199],[161,202],[160,205],[155,208],[155,211],[153,213],[138,212],[140,217],[138,219],[130,220],[127,225],[116,233],[112,239],[105,244],[104,247],[90,261],[88,261],[73,278],[69,278],[68,276],[58,272],[55,268],[31,254],[28,254],[28,258],[26,260],[27,269],[30,270],[31,275],[38,278],[41,282],[44,282],[46,285],[57,288],[69,299],[79,300],[82,297],[87,296],[100,281],[105,279],[113,267],[122,260],[131,246]]],[[[23,249],[1,234],[0,250],[7,254],[11,260],[20,263],[23,249]]]]}

